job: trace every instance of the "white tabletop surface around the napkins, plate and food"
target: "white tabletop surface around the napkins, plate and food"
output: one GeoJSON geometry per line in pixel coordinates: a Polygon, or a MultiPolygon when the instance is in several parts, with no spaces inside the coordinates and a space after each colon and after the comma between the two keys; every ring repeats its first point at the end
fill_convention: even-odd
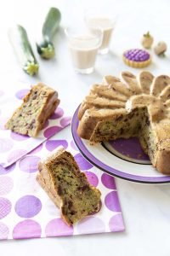
{"type": "MultiPolygon", "coordinates": [[[[164,40],[169,46],[166,58],[153,55],[148,67],[154,74],[170,73],[170,2],[168,0],[30,0],[1,1],[0,6],[0,75],[14,76],[20,81],[47,83],[59,91],[63,104],[71,106],[71,113],[77,108],[89,87],[99,82],[103,75],[118,75],[122,70],[133,70],[122,63],[125,49],[139,47],[144,32],[150,31],[155,42],[164,40]],[[20,71],[12,49],[8,44],[8,26],[20,23],[26,27],[33,43],[38,37],[42,18],[51,6],[62,13],[62,26],[82,22],[86,9],[95,6],[110,9],[119,18],[111,41],[111,53],[98,56],[95,72],[91,75],[77,75],[71,66],[66,48],[65,36],[60,29],[56,37],[56,59],[42,61],[39,58],[40,73],[29,78],[20,71]]],[[[34,45],[35,49],[35,45],[34,45]]],[[[15,86],[15,84],[11,84],[15,86]]],[[[3,84],[0,83],[0,89],[3,84]]],[[[126,231],[118,234],[74,236],[23,241],[1,241],[0,255],[45,256],[65,255],[169,255],[170,252],[170,185],[144,185],[130,183],[116,178],[122,205],[126,231]]]]}

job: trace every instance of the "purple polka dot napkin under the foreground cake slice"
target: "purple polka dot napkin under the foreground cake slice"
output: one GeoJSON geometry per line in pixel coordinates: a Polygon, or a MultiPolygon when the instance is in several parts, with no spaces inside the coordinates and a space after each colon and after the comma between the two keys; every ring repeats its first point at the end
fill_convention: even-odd
{"type": "Polygon", "coordinates": [[[1,166],[0,240],[122,230],[124,224],[114,177],[101,172],[82,157],[71,140],[70,127],[55,134],[12,166],[1,166]],[[36,181],[38,161],[60,145],[71,151],[88,182],[101,191],[100,211],[71,227],[60,218],[59,209],[36,181]]]}

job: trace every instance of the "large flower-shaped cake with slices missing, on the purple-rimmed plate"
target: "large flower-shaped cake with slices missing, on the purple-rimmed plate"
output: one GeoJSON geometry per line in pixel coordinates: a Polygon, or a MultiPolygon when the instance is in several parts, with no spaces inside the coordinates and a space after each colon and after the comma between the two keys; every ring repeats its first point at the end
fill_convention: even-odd
{"type": "Polygon", "coordinates": [[[77,133],[91,143],[139,137],[159,172],[170,174],[170,77],[122,72],[94,84],[78,113],[77,133]]]}

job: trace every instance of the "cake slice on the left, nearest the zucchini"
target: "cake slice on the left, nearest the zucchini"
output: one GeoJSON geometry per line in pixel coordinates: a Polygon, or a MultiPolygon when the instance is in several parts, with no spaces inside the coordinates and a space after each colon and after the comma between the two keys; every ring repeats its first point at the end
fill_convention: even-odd
{"type": "Polygon", "coordinates": [[[59,105],[58,93],[45,84],[34,85],[24,97],[5,127],[30,137],[37,137],[48,117],[59,105]]]}

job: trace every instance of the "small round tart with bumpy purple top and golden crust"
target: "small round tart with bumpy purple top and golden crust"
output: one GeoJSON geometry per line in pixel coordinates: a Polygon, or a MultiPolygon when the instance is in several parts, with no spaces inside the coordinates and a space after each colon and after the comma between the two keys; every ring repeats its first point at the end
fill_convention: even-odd
{"type": "Polygon", "coordinates": [[[122,58],[129,67],[147,67],[151,62],[150,54],[144,49],[128,49],[122,58]]]}

